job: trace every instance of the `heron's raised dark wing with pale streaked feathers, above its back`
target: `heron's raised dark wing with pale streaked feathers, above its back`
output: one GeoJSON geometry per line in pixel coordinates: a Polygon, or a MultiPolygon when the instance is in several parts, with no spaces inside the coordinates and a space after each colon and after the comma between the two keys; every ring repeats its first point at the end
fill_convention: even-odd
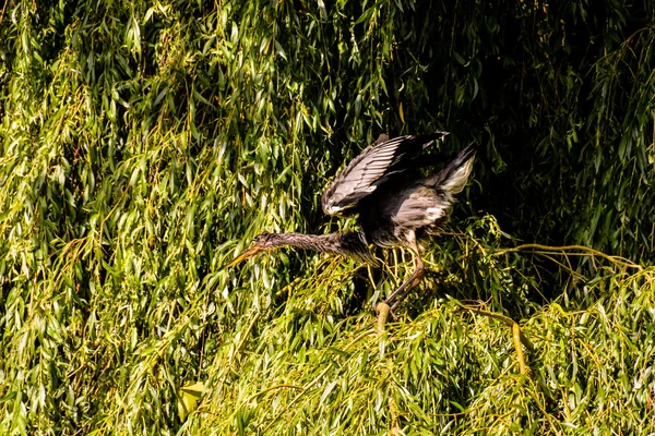
{"type": "Polygon", "coordinates": [[[389,177],[409,168],[409,162],[434,140],[445,136],[437,132],[419,136],[398,136],[386,140],[380,135],[378,142],[368,146],[337,174],[321,198],[323,211],[337,215],[355,206],[384,183],[389,177]]]}

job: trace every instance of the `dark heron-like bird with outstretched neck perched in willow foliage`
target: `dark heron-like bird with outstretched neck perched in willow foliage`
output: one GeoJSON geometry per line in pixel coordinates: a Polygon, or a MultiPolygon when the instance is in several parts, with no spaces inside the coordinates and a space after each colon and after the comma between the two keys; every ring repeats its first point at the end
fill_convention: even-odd
{"type": "Polygon", "coordinates": [[[425,276],[419,241],[438,231],[454,195],[464,190],[472,172],[475,142],[436,174],[421,173],[421,168],[431,166],[424,149],[448,134],[434,132],[392,140],[382,134],[336,175],[321,197],[323,211],[341,217],[358,215],[359,230],[331,234],[262,233],[228,267],[282,246],[341,254],[371,265],[378,265],[371,244],[406,249],[412,253],[414,271],[383,301],[393,315],[425,276]]]}

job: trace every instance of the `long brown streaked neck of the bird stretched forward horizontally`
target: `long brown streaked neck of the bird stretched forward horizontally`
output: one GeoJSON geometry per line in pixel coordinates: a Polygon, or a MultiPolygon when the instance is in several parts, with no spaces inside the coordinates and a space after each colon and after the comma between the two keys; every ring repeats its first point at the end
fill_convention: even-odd
{"type": "Polygon", "coordinates": [[[364,234],[360,232],[331,233],[331,234],[302,234],[277,233],[272,234],[269,247],[295,246],[298,249],[313,250],[319,253],[342,254],[359,261],[376,263],[364,234]]]}

